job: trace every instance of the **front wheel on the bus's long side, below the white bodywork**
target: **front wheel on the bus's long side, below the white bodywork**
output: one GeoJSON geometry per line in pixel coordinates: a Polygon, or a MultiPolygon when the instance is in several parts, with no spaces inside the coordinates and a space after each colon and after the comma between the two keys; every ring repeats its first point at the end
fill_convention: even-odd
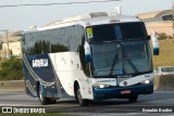
{"type": "Polygon", "coordinates": [[[88,100],[83,99],[82,93],[80,93],[80,88],[77,87],[75,98],[77,102],[79,103],[80,106],[87,106],[88,105],[88,100]]]}

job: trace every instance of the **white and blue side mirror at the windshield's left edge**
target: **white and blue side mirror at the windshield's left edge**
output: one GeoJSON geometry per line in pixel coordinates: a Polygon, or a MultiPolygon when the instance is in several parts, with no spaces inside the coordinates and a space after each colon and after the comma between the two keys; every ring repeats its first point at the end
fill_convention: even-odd
{"type": "Polygon", "coordinates": [[[85,62],[90,62],[91,51],[90,51],[90,44],[87,41],[85,41],[84,50],[85,50],[85,62]]]}

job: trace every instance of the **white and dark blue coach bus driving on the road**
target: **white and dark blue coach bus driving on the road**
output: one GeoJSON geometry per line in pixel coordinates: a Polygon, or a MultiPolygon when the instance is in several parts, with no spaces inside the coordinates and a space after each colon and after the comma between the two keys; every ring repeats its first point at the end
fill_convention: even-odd
{"type": "Polygon", "coordinates": [[[39,98],[41,104],[70,96],[82,106],[114,98],[136,102],[139,94],[153,92],[149,41],[144,22],[105,12],[26,30],[26,93],[39,98]]]}

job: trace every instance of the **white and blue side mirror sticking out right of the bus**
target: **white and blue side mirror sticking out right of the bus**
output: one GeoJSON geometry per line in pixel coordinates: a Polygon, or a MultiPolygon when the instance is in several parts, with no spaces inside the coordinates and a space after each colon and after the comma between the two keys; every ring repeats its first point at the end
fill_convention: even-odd
{"type": "Polygon", "coordinates": [[[159,53],[160,53],[159,40],[157,39],[154,33],[152,33],[152,35],[151,35],[151,41],[152,41],[152,46],[153,46],[153,55],[159,55],[159,53]]]}

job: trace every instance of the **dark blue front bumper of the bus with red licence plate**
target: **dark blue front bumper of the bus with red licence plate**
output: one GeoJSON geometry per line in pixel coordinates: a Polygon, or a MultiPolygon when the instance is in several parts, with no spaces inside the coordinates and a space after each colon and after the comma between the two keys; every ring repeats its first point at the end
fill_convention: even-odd
{"type": "Polygon", "coordinates": [[[138,94],[151,94],[153,93],[153,83],[138,85],[130,87],[112,87],[112,88],[92,88],[95,100],[104,99],[128,99],[138,94]]]}

